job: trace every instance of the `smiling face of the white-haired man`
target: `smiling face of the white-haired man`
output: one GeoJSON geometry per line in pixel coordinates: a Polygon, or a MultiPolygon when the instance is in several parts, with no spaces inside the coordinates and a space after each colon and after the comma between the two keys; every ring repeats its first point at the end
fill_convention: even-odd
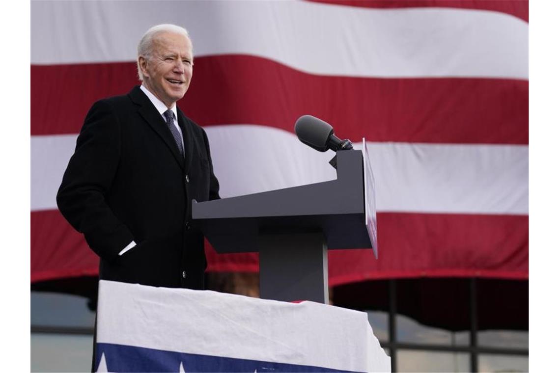
{"type": "Polygon", "coordinates": [[[183,98],[193,76],[190,40],[174,32],[161,32],[153,39],[151,56],[139,56],[144,86],[168,108],[183,98]]]}

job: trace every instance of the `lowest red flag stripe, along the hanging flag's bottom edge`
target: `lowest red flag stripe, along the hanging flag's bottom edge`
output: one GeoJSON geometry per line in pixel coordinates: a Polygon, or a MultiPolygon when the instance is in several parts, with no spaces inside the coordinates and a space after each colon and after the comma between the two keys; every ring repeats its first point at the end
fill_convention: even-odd
{"type": "MultiPolygon", "coordinates": [[[[529,278],[526,215],[377,214],[371,249],[329,252],[329,284],[375,278],[529,278]]],[[[208,271],[258,271],[258,256],[206,248],[208,271]]],[[[58,210],[31,213],[31,282],[97,275],[99,261],[58,210]]]]}

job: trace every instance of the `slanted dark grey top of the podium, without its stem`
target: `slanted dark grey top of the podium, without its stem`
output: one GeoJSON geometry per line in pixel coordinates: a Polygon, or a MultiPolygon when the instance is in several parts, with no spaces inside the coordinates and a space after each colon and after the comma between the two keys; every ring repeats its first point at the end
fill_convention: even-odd
{"type": "Polygon", "coordinates": [[[363,156],[337,152],[337,180],[206,202],[197,224],[220,253],[258,252],[263,234],[323,232],[329,249],[371,248],[366,228],[363,156]]]}

